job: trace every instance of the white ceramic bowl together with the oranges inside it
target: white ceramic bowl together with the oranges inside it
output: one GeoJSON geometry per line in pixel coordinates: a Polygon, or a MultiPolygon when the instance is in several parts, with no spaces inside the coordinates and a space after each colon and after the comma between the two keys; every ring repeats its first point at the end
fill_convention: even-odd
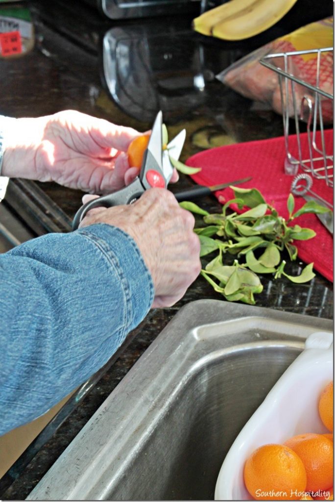
{"type": "Polygon", "coordinates": [[[332,334],[312,333],[237,436],[216,500],[332,500],[332,334]]]}

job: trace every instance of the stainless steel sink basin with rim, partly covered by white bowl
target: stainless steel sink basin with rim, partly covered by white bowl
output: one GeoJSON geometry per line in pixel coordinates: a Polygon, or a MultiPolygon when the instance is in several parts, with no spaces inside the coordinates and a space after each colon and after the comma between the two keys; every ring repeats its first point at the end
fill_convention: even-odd
{"type": "Polygon", "coordinates": [[[28,499],[213,499],[239,431],[326,319],[219,300],[179,311],[28,499]]]}

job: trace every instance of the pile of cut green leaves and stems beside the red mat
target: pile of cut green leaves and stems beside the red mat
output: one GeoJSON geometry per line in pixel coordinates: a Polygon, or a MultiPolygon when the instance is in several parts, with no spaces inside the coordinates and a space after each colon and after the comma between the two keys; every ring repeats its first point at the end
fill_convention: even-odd
{"type": "Polygon", "coordinates": [[[235,198],[223,206],[221,213],[210,214],[193,202],[180,204],[193,213],[203,215],[206,226],[195,228],[201,241],[200,256],[218,252],[201,271],[215,291],[226,300],[254,305],[254,294],[263,290],[257,274],[273,274],[274,279],[285,276],[294,283],[310,281],[315,276],[312,263],[299,276],[290,276],[284,272],[286,262],[281,254],[286,250],[289,259],[296,260],[294,241],[315,236],[313,230],[301,228],[295,222],[293,224],[293,220],[301,214],[324,213],[328,209],[312,201],[294,212],[294,197],[290,194],[287,199],[289,217],[285,221],[255,188],[231,188],[235,198]],[[249,209],[240,214],[231,212],[228,209],[233,203],[239,210],[249,209]],[[236,256],[233,265],[224,265],[226,253],[236,256]]]}

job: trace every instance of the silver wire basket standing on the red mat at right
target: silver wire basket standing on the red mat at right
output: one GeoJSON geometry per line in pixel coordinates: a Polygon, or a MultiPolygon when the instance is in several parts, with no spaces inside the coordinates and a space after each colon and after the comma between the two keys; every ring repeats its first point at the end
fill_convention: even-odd
{"type": "MultiPolygon", "coordinates": [[[[333,186],[332,148],[326,148],[324,125],[332,123],[332,57],[333,48],[268,54],[260,63],[275,71],[279,78],[285,138],[285,173],[295,176],[299,169],[314,179],[322,179],[328,187],[333,186]],[[301,62],[306,62],[301,74],[301,62]],[[323,70],[326,69],[324,72],[323,70]],[[330,75],[331,74],[331,75],[330,75]],[[296,145],[289,141],[289,129],[295,125],[296,145]],[[307,132],[308,155],[303,156],[300,135],[307,132]],[[294,148],[295,147],[295,148],[294,148]],[[292,149],[298,155],[291,154],[292,149]]],[[[295,141],[295,139],[294,139],[295,141]]]]}

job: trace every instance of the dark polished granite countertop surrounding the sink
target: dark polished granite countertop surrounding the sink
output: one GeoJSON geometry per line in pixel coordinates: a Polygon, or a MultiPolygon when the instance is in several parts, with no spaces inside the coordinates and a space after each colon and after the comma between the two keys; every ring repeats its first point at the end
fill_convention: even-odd
{"type": "MultiPolygon", "coordinates": [[[[23,7],[32,15],[35,46],[24,57],[0,60],[0,73],[6,75],[0,113],[39,116],[72,108],[145,131],[161,108],[171,137],[187,130],[183,161],[213,146],[213,138],[216,145],[224,145],[282,135],[282,117],[225,88],[215,75],[253,48],[297,27],[292,23],[279,24],[247,44],[224,43],[192,32],[187,16],[112,22],[79,1],[32,1],[23,7]],[[104,62],[117,45],[119,59],[108,63],[116,75],[111,81],[104,62]],[[200,84],[195,84],[195,75],[200,84]]],[[[182,175],[178,189],[192,184],[182,175]]],[[[37,186],[69,218],[81,204],[79,191],[54,183],[37,186]]],[[[204,198],[201,205],[210,211],[219,208],[214,197],[204,198]]],[[[299,261],[290,270],[296,273],[298,267],[299,261]]],[[[332,317],[332,284],[321,275],[303,285],[266,277],[262,282],[258,306],[332,317]]],[[[2,499],[28,495],[161,329],[183,305],[201,298],[218,295],[198,278],[176,305],[150,311],[3,477],[2,499]]]]}

